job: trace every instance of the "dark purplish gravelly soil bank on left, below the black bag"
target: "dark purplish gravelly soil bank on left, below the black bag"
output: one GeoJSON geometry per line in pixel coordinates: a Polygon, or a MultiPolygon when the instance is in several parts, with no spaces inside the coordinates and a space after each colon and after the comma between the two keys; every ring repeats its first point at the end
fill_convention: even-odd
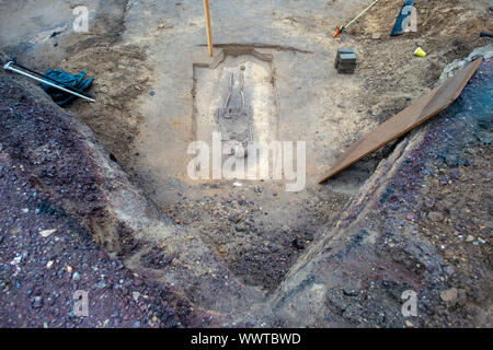
{"type": "Polygon", "coordinates": [[[3,77],[0,95],[0,327],[207,325],[94,242],[104,184],[73,117],[3,77]],[[77,290],[89,292],[87,317],[74,314],[77,290]]]}

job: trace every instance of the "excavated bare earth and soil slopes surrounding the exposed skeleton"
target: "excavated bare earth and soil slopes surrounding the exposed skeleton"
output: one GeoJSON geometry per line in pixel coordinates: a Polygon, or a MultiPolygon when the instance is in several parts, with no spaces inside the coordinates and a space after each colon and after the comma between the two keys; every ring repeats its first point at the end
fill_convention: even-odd
{"type": "Polygon", "coordinates": [[[491,324],[491,97],[478,93],[491,92],[491,62],[437,121],[317,180],[489,43],[479,33],[493,31],[492,3],[416,0],[417,32],[390,37],[402,1],[382,0],[332,38],[369,3],[214,2],[214,59],[202,2],[87,1],[88,33],[72,31],[79,1],[1,3],[2,63],[85,70],[96,96],[62,110],[24,78],[0,75],[1,325],[491,324]],[[355,74],[334,70],[339,47],[356,51],[355,74]],[[253,138],[307,142],[301,191],[190,178],[187,147],[210,141],[237,68],[253,138]],[[392,161],[400,177],[382,171],[392,161]],[[115,196],[121,187],[131,195],[115,196]],[[341,254],[345,267],[333,262],[341,254]],[[416,319],[400,314],[406,289],[425,299],[416,319]],[[78,290],[89,317],[73,314],[78,290]]]}

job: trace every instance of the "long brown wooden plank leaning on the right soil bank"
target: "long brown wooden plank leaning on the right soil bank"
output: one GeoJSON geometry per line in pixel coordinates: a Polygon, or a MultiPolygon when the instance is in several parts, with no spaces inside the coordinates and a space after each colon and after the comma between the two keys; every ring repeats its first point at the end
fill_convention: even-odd
{"type": "Polygon", "coordinates": [[[482,58],[479,58],[469,63],[454,77],[447,79],[442,85],[433,89],[428,94],[416,100],[411,106],[353,143],[332,165],[329,174],[320,179],[319,184],[447,108],[460,96],[481,62],[482,58]]]}

